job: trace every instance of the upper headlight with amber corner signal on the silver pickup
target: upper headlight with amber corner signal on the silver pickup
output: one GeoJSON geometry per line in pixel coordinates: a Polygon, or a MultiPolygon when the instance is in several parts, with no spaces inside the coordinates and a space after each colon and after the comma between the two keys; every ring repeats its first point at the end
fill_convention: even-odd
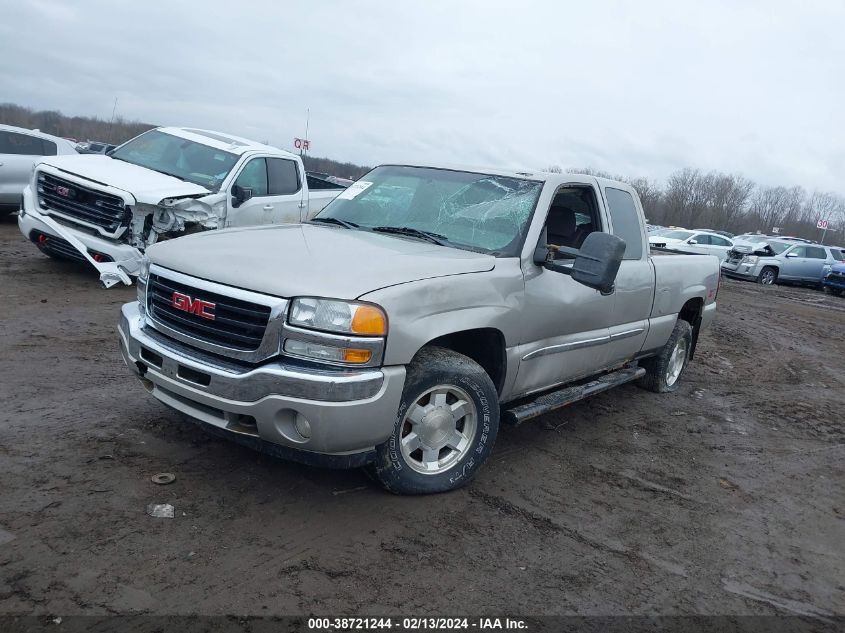
{"type": "Polygon", "coordinates": [[[288,321],[291,325],[340,334],[387,334],[384,310],[355,301],[300,297],[291,302],[288,321]]]}

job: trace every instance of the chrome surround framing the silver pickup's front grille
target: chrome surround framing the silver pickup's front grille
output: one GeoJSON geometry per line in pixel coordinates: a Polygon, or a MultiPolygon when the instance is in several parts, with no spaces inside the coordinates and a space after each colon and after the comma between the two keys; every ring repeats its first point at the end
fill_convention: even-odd
{"type": "Polygon", "coordinates": [[[250,303],[258,303],[270,308],[270,319],[267,322],[267,329],[264,330],[264,338],[261,340],[261,345],[258,346],[258,349],[251,351],[233,349],[231,347],[226,347],[225,345],[209,343],[168,327],[161,321],[152,317],[148,305],[149,297],[147,297],[147,300],[145,301],[147,323],[152,325],[152,327],[157,329],[159,332],[163,332],[164,334],[167,334],[167,336],[192,347],[252,363],[258,363],[279,354],[281,349],[282,324],[284,323],[285,316],[287,314],[287,299],[264,295],[250,290],[243,290],[233,286],[225,286],[223,284],[199,279],[197,277],[191,277],[157,264],[152,264],[150,266],[150,274],[158,275],[164,279],[170,279],[171,281],[185,284],[186,286],[191,286],[193,288],[198,288],[200,290],[207,290],[208,292],[223,295],[224,297],[240,299],[241,301],[248,301],[250,303]]]}

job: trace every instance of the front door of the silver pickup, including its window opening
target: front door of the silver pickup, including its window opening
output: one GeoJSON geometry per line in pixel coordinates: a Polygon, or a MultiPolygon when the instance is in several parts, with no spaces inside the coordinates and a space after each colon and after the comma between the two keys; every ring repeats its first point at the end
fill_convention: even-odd
{"type": "MultiPolygon", "coordinates": [[[[566,185],[546,212],[540,241],[560,246],[555,263],[571,265],[584,238],[604,227],[595,187],[566,185]]],[[[603,368],[613,295],[602,295],[533,262],[524,266],[525,310],[515,392],[541,390],[603,368]]]]}

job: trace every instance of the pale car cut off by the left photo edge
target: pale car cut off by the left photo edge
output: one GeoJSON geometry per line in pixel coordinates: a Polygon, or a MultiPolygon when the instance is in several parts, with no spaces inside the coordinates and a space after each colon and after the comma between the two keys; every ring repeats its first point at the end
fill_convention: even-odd
{"type": "Polygon", "coordinates": [[[21,206],[32,166],[42,156],[76,154],[73,143],[38,130],[0,125],[0,215],[21,206]]]}

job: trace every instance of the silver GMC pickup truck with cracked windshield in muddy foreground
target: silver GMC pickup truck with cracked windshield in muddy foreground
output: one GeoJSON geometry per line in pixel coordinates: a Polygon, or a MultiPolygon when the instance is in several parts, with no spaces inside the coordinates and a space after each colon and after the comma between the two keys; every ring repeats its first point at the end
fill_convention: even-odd
{"type": "Polygon", "coordinates": [[[384,165],[309,222],[150,247],[120,346],[213,433],[449,490],[500,421],[631,381],[677,388],[719,262],[652,254],[644,227],[620,182],[384,165]]]}

